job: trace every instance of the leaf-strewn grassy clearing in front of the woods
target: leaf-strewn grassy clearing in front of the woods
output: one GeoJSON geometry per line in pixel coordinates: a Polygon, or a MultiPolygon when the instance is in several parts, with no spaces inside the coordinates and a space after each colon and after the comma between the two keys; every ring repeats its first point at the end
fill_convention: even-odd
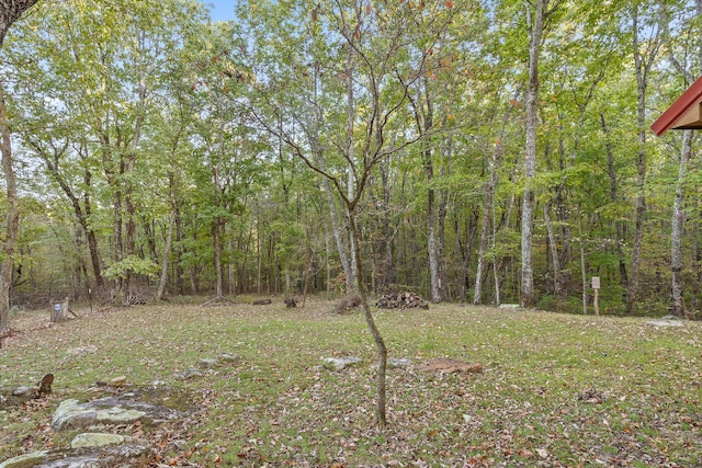
{"type": "MultiPolygon", "coordinates": [[[[245,301],[245,298],[237,298],[245,301]]],[[[69,445],[60,401],[125,375],[189,397],[188,418],[118,427],[157,447],[155,466],[702,466],[702,323],[461,305],[375,315],[389,357],[482,363],[482,374],[389,369],[388,426],[373,422],[375,347],[336,301],[48,311],[12,318],[0,387],[55,375],[54,395],[0,411],[0,461],[69,445]],[[179,379],[201,358],[233,363],[179,379]],[[330,372],[325,357],[363,362],[330,372]]]]}

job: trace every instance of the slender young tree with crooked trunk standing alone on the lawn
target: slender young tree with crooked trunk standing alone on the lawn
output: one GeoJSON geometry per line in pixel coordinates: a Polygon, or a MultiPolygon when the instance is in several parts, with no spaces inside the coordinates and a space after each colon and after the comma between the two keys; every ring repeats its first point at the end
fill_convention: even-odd
{"type": "MultiPolygon", "coordinates": [[[[296,50],[290,50],[291,55],[285,59],[285,71],[293,71],[294,75],[283,71],[283,76],[278,76],[280,70],[269,69],[264,75],[265,81],[256,84],[259,92],[258,99],[263,104],[263,109],[267,109],[265,114],[260,111],[254,113],[257,121],[268,132],[282,138],[312,170],[328,180],[336,187],[337,196],[347,210],[353,240],[356,285],[365,321],[378,354],[375,413],[381,425],[386,424],[387,349],[369,304],[359,215],[363,209],[364,194],[378,163],[408,147],[418,138],[416,135],[405,134],[401,140],[390,146],[388,135],[393,128],[401,126],[407,118],[400,111],[408,102],[411,87],[417,83],[424,70],[437,32],[451,16],[449,10],[450,7],[441,5],[423,12],[422,14],[435,20],[429,30],[421,27],[419,22],[412,20],[416,13],[404,3],[349,4],[331,1],[309,3],[298,11],[284,12],[294,16],[301,24],[304,31],[298,28],[298,34],[301,36],[310,34],[312,39],[307,41],[301,36],[274,37],[273,42],[276,44],[286,42],[297,47],[296,50]],[[427,41],[417,42],[421,47],[407,46],[407,37],[422,35],[427,41]],[[335,52],[337,64],[344,64],[342,69],[335,69],[335,52]],[[312,151],[309,140],[305,140],[296,132],[299,126],[309,128],[302,111],[315,101],[304,98],[299,102],[299,109],[295,106],[284,111],[280,105],[275,105],[280,102],[279,93],[282,92],[278,80],[285,80],[286,89],[294,83],[295,89],[301,93],[305,90],[309,93],[314,88],[314,83],[308,78],[318,77],[318,75],[307,73],[302,68],[296,69],[296,65],[301,62],[319,64],[325,71],[325,80],[320,85],[326,99],[333,100],[336,96],[338,101],[346,103],[343,112],[329,107],[326,118],[321,122],[317,121],[318,125],[322,125],[321,128],[317,128],[318,135],[324,136],[321,142],[327,148],[326,151],[329,151],[326,165],[321,165],[319,158],[312,151]],[[353,73],[350,73],[350,70],[353,70],[353,73]],[[283,121],[282,125],[281,121],[283,121]],[[330,151],[332,148],[336,149],[333,158],[330,151]]],[[[275,18],[276,23],[285,24],[281,22],[283,11],[276,10],[276,13],[274,15],[272,11],[262,11],[259,4],[251,4],[240,12],[240,18],[248,16],[251,22],[275,18]]],[[[285,34],[292,33],[286,31],[285,34]]]]}

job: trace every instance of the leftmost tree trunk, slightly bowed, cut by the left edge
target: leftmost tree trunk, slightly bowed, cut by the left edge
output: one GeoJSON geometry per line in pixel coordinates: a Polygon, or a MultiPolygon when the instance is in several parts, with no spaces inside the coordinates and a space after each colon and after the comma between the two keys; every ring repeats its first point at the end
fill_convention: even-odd
{"type": "MultiPolygon", "coordinates": [[[[29,7],[27,7],[29,8],[29,7]]],[[[4,16],[4,15],[2,15],[4,16]]],[[[0,24],[3,26],[3,24],[0,24]]],[[[9,24],[8,24],[9,26],[9,24]]],[[[4,28],[0,30],[0,41],[4,37],[4,28]]],[[[5,236],[2,244],[2,262],[0,263],[0,332],[10,328],[10,287],[14,266],[14,247],[20,231],[20,206],[14,169],[12,168],[12,144],[10,124],[4,103],[4,83],[0,80],[0,144],[2,172],[5,181],[8,212],[5,216],[5,236]]]]}

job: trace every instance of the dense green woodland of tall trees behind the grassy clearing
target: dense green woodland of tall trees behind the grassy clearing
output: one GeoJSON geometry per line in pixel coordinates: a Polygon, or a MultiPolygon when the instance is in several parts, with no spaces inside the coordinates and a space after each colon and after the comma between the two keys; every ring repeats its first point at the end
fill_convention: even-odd
{"type": "Polygon", "coordinates": [[[233,8],[41,0],[9,30],[0,329],[59,297],[343,295],[356,269],[575,313],[599,277],[602,313],[695,317],[697,139],[649,126],[702,70],[702,1],[233,8]]]}

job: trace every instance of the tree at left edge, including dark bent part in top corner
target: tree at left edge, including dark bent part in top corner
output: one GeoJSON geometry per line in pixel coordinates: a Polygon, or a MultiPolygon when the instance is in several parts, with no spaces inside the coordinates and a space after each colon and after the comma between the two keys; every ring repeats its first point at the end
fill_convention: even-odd
{"type": "MultiPolygon", "coordinates": [[[[0,1],[0,49],[12,23],[18,21],[20,16],[36,2],[37,0],[0,1]]],[[[0,332],[10,328],[10,286],[12,284],[12,269],[14,265],[14,248],[20,229],[18,187],[14,169],[12,167],[12,140],[10,122],[8,122],[8,112],[5,109],[4,85],[4,78],[0,77],[0,162],[8,197],[7,229],[2,242],[2,250],[0,251],[0,332]]]]}

